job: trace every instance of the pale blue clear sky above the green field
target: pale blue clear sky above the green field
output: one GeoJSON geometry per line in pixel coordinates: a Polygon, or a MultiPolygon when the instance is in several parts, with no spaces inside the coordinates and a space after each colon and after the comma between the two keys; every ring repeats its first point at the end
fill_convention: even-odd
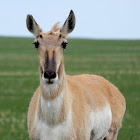
{"type": "Polygon", "coordinates": [[[140,39],[140,0],[4,0],[0,2],[0,36],[33,37],[26,16],[32,14],[43,31],[70,10],[76,16],[72,38],[140,39]]]}

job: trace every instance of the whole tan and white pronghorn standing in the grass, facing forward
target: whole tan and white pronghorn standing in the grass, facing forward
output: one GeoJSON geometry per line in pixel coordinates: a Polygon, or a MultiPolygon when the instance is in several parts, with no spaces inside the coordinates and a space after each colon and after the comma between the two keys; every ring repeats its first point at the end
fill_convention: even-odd
{"type": "Polygon", "coordinates": [[[32,15],[27,28],[39,53],[40,86],[28,111],[31,140],[116,140],[125,112],[120,91],[97,75],[66,75],[63,51],[75,27],[71,10],[64,25],[43,32],[32,15]]]}

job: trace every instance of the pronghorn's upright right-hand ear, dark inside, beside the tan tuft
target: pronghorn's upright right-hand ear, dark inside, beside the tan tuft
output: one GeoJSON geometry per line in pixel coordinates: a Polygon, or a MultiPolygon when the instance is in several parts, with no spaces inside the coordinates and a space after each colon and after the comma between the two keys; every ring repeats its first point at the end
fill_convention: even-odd
{"type": "Polygon", "coordinates": [[[75,15],[74,12],[71,10],[68,18],[66,19],[64,25],[60,29],[60,33],[64,36],[67,37],[69,33],[73,31],[75,27],[75,15]]]}

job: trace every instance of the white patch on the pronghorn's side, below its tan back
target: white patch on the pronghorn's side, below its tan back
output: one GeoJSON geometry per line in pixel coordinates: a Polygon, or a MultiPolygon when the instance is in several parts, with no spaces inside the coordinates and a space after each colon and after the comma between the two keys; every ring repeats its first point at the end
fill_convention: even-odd
{"type": "Polygon", "coordinates": [[[111,126],[112,113],[110,106],[107,105],[101,110],[92,111],[90,114],[91,130],[93,130],[93,139],[102,140],[108,135],[111,126]]]}

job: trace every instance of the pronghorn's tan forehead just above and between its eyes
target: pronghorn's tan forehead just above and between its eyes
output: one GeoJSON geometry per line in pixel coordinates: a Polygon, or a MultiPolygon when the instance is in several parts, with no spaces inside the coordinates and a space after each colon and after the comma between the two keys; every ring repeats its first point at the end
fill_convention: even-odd
{"type": "Polygon", "coordinates": [[[41,32],[40,35],[36,38],[39,41],[40,45],[43,46],[57,46],[60,45],[66,39],[59,32],[41,32]]]}

